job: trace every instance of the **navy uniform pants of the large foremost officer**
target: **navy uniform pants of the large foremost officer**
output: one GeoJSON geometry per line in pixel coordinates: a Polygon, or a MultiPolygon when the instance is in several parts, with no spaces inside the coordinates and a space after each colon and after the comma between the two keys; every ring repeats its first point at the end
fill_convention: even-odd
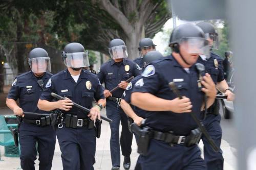
{"type": "Polygon", "coordinates": [[[143,170],[206,170],[204,160],[198,145],[185,147],[151,139],[147,155],[140,155],[141,169],[143,170]]]}

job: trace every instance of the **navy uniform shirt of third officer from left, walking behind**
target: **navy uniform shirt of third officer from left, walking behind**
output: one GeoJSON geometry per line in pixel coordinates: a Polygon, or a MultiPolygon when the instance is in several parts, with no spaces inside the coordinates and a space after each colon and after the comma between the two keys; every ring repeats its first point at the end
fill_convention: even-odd
{"type": "MultiPolygon", "coordinates": [[[[118,86],[121,81],[125,81],[132,76],[136,77],[140,74],[140,66],[129,59],[123,59],[123,61],[119,63],[110,60],[100,66],[98,78],[100,83],[105,84],[105,89],[112,90],[118,86]]],[[[124,89],[118,88],[112,93],[112,96],[121,98],[123,91],[124,89]]]]}

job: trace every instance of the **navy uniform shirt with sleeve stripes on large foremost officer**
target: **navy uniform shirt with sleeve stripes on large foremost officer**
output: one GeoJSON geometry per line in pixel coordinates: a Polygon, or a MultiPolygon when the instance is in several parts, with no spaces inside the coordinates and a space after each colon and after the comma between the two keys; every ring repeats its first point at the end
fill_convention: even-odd
{"type": "MultiPolygon", "coordinates": [[[[195,65],[189,68],[188,73],[172,56],[167,56],[153,61],[145,68],[142,78],[135,83],[132,92],[147,92],[158,98],[173,100],[177,98],[177,95],[169,88],[168,83],[175,82],[180,94],[190,99],[193,105],[192,112],[200,117],[204,93],[199,89],[197,81],[195,65]]],[[[188,135],[191,130],[197,128],[190,113],[172,111],[150,113],[145,123],[158,131],[173,131],[176,135],[188,135]]]]}

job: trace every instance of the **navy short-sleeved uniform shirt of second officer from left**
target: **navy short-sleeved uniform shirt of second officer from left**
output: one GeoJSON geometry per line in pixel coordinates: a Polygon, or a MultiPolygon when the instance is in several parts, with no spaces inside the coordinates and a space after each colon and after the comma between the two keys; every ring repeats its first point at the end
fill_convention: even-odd
{"type": "MultiPolygon", "coordinates": [[[[77,83],[71,77],[68,69],[62,70],[54,75],[46,84],[46,90],[42,92],[40,99],[52,102],[54,98],[51,92],[67,97],[73,102],[86,107],[92,108],[93,98],[96,101],[104,99],[103,90],[98,77],[88,70],[81,70],[77,83]]],[[[78,118],[87,118],[87,113],[72,107],[69,111],[62,110],[63,113],[75,114],[78,118]]]]}

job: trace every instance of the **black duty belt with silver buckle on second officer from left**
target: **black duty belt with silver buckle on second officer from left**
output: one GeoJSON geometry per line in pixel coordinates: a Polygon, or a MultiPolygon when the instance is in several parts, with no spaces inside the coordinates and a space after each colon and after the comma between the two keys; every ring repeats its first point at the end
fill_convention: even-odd
{"type": "Polygon", "coordinates": [[[93,120],[89,118],[78,118],[77,115],[66,114],[64,122],[68,128],[88,127],[91,129],[94,127],[93,120]]]}

